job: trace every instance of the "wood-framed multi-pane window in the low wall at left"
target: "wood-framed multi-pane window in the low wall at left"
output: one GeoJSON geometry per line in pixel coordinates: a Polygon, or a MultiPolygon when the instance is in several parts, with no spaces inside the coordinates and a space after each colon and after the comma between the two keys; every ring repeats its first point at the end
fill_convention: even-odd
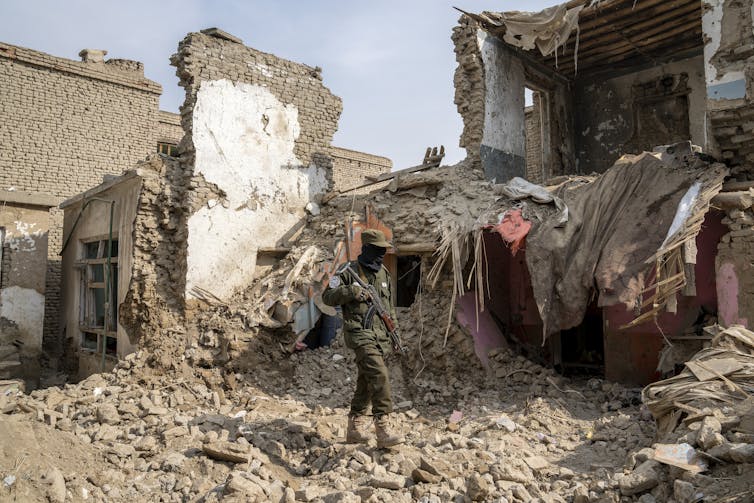
{"type": "Polygon", "coordinates": [[[118,241],[83,243],[79,302],[81,349],[115,356],[118,324],[118,241]],[[109,261],[109,266],[108,266],[109,261]],[[109,268],[108,268],[109,267],[109,268]]]}

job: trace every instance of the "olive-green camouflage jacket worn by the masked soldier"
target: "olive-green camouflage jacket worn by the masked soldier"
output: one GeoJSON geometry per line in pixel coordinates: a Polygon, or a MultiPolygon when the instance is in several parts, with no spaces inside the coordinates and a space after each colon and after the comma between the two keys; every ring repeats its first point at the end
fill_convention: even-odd
{"type": "MultiPolygon", "coordinates": [[[[390,273],[382,266],[378,272],[362,267],[357,261],[351,262],[351,268],[361,276],[362,281],[374,286],[380,296],[380,301],[390,316],[395,320],[395,308],[393,307],[393,289],[390,281],[390,273]]],[[[346,346],[356,348],[364,344],[376,342],[384,354],[391,350],[390,337],[385,325],[375,313],[372,319],[372,328],[363,326],[369,305],[367,302],[359,302],[351,292],[351,285],[355,281],[350,273],[334,276],[330,286],[322,294],[322,300],[330,306],[343,306],[343,337],[346,346]]]]}

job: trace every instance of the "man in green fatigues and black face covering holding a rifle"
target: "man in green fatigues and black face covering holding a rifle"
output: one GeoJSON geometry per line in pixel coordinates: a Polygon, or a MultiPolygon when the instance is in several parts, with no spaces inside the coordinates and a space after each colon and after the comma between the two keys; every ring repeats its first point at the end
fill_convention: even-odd
{"type": "MultiPolygon", "coordinates": [[[[390,309],[390,315],[395,319],[390,274],[382,265],[382,259],[390,243],[382,232],[373,229],[361,233],[361,243],[361,255],[352,264],[352,268],[365,283],[375,287],[382,304],[390,309]]],[[[356,392],[351,401],[351,412],[348,415],[346,442],[368,442],[369,435],[366,429],[369,426],[369,418],[365,414],[371,403],[377,447],[384,448],[403,443],[404,439],[400,435],[390,432],[388,424],[393,402],[390,397],[390,376],[384,357],[392,346],[379,317],[372,321],[372,328],[364,328],[364,318],[369,308],[366,291],[356,284],[349,274],[342,274],[332,278],[329,288],[322,295],[322,300],[330,306],[343,306],[343,334],[346,346],[356,353],[358,379],[356,392]]]]}

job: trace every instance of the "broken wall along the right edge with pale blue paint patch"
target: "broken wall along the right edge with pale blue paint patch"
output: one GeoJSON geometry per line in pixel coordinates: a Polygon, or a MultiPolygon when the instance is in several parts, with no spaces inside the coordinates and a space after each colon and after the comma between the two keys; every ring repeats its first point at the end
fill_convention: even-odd
{"type": "Polygon", "coordinates": [[[754,6],[705,0],[705,72],[710,147],[731,167],[716,205],[729,232],[718,247],[718,298],[725,326],[754,323],[754,6]]]}

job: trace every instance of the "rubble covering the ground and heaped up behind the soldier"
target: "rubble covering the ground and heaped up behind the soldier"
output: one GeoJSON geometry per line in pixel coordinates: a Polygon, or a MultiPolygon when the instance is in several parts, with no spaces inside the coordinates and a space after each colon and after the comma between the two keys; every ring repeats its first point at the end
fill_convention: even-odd
{"type": "MultiPolygon", "coordinates": [[[[463,181],[456,169],[464,167],[406,175],[388,190],[341,197],[310,215],[288,254],[247,290],[230,300],[207,295],[185,329],[160,334],[173,337],[170,365],[152,368],[154,358],[141,351],[114,373],[75,385],[29,395],[7,388],[0,452],[34,462],[19,458],[25,454],[0,459],[2,497],[681,503],[702,493],[743,494],[745,465],[737,471],[726,462],[744,459],[748,447],[718,452],[712,476],[668,467],[659,461],[664,451],[650,447],[656,427],[639,390],[568,379],[505,348],[482,367],[473,339],[448,313],[457,271],[447,267],[429,288],[427,255],[414,303],[398,310],[410,352],[388,361],[391,419],[407,442],[390,450],[342,443],[353,354],[341,340],[289,354],[296,310],[323,281],[343,218],[367,204],[394,230],[399,249],[437,244],[449,222],[495,219],[506,196],[487,182],[463,181]],[[32,447],[39,444],[49,448],[32,447]]],[[[659,440],[712,445],[722,437],[708,454],[749,445],[750,432],[736,429],[745,422],[727,420],[728,412],[711,408],[698,425],[684,423],[659,440]]]]}

